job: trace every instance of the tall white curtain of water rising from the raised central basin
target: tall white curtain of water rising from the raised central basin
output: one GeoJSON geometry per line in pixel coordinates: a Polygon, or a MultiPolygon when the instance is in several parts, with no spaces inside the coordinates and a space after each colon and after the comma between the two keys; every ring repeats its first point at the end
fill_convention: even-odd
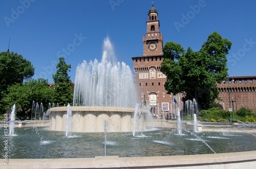
{"type": "Polygon", "coordinates": [[[107,37],[101,61],[83,61],[76,68],[73,106],[134,107],[132,70],[115,60],[114,47],[107,37]]]}

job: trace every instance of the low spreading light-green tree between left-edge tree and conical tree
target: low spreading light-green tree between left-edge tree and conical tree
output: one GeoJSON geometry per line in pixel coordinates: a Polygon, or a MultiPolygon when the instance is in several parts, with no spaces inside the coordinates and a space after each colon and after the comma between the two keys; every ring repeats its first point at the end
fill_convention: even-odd
{"type": "Polygon", "coordinates": [[[48,87],[45,79],[29,79],[23,84],[16,83],[8,87],[8,94],[3,99],[4,109],[8,110],[15,104],[16,116],[31,115],[33,101],[48,105],[53,97],[53,89],[48,87]]]}

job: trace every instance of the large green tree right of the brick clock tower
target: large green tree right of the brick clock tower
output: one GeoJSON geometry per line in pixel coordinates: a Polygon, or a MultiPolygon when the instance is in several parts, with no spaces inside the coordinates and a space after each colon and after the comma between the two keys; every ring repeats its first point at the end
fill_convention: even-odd
{"type": "Polygon", "coordinates": [[[212,107],[219,99],[216,82],[227,76],[226,55],[231,42],[217,32],[208,36],[199,52],[181,44],[167,42],[163,47],[161,71],[166,75],[167,93],[183,93],[184,101],[196,99],[201,108],[212,107]]]}

